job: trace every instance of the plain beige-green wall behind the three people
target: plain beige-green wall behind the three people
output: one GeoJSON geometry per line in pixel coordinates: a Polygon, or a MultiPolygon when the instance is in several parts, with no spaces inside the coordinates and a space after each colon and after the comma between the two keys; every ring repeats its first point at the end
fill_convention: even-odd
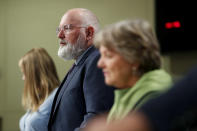
{"type": "MultiPolygon", "coordinates": [[[[88,8],[98,16],[102,26],[127,18],[144,18],[154,25],[153,3],[154,0],[0,0],[0,116],[3,117],[3,131],[18,131],[18,120],[24,113],[20,103],[23,81],[18,68],[22,55],[33,47],[46,48],[61,79],[70,67],[72,61],[65,62],[57,56],[59,45],[55,34],[67,9],[88,8]]],[[[170,57],[164,56],[164,61],[164,67],[171,71],[170,57]]],[[[181,66],[178,68],[182,69],[181,66]]]]}

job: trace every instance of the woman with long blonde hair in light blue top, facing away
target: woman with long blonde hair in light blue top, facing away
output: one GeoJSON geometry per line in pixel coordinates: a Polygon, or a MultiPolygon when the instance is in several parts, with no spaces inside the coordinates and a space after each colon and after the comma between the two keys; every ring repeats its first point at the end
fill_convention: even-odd
{"type": "Polygon", "coordinates": [[[20,60],[24,91],[22,105],[27,111],[20,119],[21,131],[47,131],[52,101],[60,84],[55,64],[43,48],[33,48],[20,60]]]}

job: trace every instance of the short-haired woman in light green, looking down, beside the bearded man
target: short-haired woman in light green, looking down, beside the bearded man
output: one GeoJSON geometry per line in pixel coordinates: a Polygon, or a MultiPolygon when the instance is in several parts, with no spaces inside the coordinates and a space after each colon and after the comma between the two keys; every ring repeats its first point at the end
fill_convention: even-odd
{"type": "Polygon", "coordinates": [[[145,101],[165,91],[172,80],[161,69],[159,44],[145,20],[124,20],[107,26],[95,37],[105,82],[115,86],[108,121],[124,118],[145,101]]]}

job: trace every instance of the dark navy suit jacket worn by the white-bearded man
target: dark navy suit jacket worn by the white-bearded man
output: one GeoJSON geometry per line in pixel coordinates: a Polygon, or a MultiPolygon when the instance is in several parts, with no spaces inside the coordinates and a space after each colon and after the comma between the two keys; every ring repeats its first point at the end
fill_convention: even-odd
{"type": "Polygon", "coordinates": [[[109,111],[113,105],[113,87],[106,86],[100,55],[90,47],[77,65],[66,75],[53,101],[49,131],[73,131],[85,126],[96,114],[109,111]]]}

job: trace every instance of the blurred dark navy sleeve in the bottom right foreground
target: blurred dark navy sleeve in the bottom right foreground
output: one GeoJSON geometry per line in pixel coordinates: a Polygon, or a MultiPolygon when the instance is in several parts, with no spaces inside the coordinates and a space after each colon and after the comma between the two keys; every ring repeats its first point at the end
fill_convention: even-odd
{"type": "Polygon", "coordinates": [[[154,131],[197,130],[197,67],[141,109],[154,131]],[[195,129],[194,129],[195,128],[195,129]]]}

